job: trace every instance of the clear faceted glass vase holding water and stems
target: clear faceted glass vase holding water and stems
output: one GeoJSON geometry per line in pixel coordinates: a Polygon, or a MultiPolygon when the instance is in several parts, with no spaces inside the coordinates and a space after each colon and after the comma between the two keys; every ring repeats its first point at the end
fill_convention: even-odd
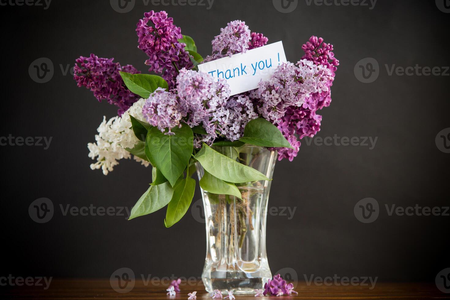
{"type": "MultiPolygon", "coordinates": [[[[272,178],[276,151],[244,145],[216,151],[272,178]]],[[[198,178],[204,172],[197,163],[198,178]]],[[[266,253],[268,180],[236,184],[242,199],[202,189],[206,219],[206,259],[202,280],[208,292],[254,293],[272,277],[266,253]]]]}

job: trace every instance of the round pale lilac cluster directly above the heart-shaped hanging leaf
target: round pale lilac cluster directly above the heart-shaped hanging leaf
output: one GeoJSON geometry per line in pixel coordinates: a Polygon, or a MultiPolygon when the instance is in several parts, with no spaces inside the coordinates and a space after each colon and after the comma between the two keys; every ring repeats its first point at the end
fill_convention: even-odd
{"type": "Polygon", "coordinates": [[[142,107],[142,114],[148,124],[157,126],[162,132],[168,128],[166,134],[174,134],[171,129],[180,125],[181,118],[186,116],[176,95],[162,88],[150,94],[142,107]]]}

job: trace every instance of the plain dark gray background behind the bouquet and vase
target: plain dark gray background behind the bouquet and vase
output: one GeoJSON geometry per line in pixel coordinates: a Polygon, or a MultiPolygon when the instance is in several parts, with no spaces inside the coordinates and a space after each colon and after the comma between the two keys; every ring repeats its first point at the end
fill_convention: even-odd
{"type": "MultiPolygon", "coordinates": [[[[280,13],[271,0],[215,0],[207,6],[153,6],[136,0],[117,13],[107,0],[53,0],[48,9],[2,6],[2,118],[0,136],[53,137],[48,150],[2,146],[1,274],[13,276],[108,277],[121,267],[152,276],[200,276],[205,255],[204,224],[191,210],[165,228],[165,209],[127,221],[124,216],[64,216],[60,205],[128,206],[146,190],[151,170],[120,161],[108,176],[89,168],[86,144],[103,115],[116,107],[98,103],[77,88],[63,69],[80,55],[114,57],[142,72],[146,55],[137,49],[135,24],[144,12],[166,10],[198,52],[211,52],[220,27],[236,19],[269,42],[283,40],[288,60],[302,56],[311,35],[335,47],[338,67],[333,102],[322,111],[318,136],[378,137],[363,146],[302,143],[293,162],[277,162],[270,206],[296,207],[293,219],[269,215],[267,253],[273,272],[293,268],[300,279],[315,276],[378,276],[379,281],[430,281],[449,267],[448,216],[389,216],[385,204],[448,206],[450,154],[436,144],[450,127],[449,76],[388,76],[385,64],[450,65],[449,14],[434,1],[378,0],[368,6],[308,6],[298,1],[280,13]],[[28,67],[49,58],[54,76],[31,80],[28,67]],[[362,58],[380,65],[376,81],[357,80],[362,58]],[[51,199],[55,212],[45,224],[28,215],[32,201],[51,199]],[[356,202],[375,198],[379,217],[356,219],[356,202]]],[[[197,191],[194,201],[199,199],[197,191]]],[[[198,208],[194,208],[194,210],[198,208]]]]}

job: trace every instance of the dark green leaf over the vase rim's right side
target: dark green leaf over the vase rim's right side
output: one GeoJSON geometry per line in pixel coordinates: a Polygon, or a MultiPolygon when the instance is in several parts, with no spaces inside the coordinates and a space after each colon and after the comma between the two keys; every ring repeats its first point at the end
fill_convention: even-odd
{"type": "Polygon", "coordinates": [[[254,119],[245,125],[241,142],[263,147],[292,148],[277,126],[263,118],[254,119]]]}

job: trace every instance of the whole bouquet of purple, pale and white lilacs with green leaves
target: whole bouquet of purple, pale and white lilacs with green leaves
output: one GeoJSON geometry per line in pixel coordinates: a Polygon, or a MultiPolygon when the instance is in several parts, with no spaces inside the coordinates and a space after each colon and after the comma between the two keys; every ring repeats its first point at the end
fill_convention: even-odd
{"type": "Polygon", "coordinates": [[[282,63],[258,88],[230,95],[224,79],[198,72],[198,64],[267,44],[245,22],[229,22],[212,40],[206,58],[193,39],[181,34],[165,11],[144,14],[136,26],[138,48],[148,71],[94,54],[76,59],[74,79],[99,100],[116,105],[118,116],[103,121],[89,143],[91,169],[107,175],[122,158],[153,166],[153,182],[133,207],[130,219],[167,205],[166,227],[178,222],[193,198],[195,164],[205,170],[200,186],[236,197],[236,184],[268,178],[216,150],[245,143],[278,151],[292,161],[300,140],[320,130],[317,111],[329,106],[338,60],[333,45],[311,36],[297,63],[282,63]]]}

